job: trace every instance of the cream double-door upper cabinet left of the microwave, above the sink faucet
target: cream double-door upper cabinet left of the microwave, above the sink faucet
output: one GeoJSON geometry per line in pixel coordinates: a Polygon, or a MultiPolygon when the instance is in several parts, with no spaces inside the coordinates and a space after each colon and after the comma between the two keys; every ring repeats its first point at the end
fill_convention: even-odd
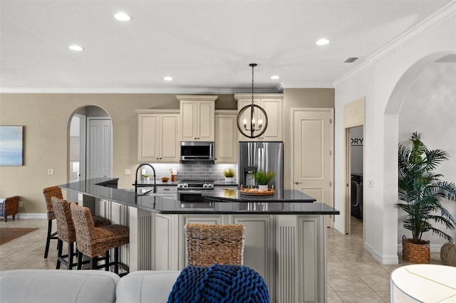
{"type": "Polygon", "coordinates": [[[138,161],[178,163],[179,110],[138,112],[138,161]]]}

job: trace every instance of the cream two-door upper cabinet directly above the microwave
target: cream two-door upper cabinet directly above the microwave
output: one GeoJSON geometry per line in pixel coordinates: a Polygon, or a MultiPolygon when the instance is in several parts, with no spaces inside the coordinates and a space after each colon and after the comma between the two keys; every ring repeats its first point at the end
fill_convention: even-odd
{"type": "Polygon", "coordinates": [[[214,95],[178,95],[180,100],[181,141],[214,141],[214,95]]]}

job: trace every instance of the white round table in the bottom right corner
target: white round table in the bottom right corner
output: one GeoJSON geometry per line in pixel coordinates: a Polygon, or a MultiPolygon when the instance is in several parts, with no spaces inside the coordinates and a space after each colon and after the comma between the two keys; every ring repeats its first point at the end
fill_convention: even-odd
{"type": "Polygon", "coordinates": [[[456,267],[417,264],[391,273],[391,302],[456,302],[456,267]]]}

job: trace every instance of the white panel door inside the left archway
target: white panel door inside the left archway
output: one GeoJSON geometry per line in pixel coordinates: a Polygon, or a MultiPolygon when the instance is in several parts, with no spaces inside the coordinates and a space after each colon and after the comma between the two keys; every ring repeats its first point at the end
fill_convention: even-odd
{"type": "Polygon", "coordinates": [[[111,176],[111,122],[110,119],[88,120],[88,179],[111,176]]]}

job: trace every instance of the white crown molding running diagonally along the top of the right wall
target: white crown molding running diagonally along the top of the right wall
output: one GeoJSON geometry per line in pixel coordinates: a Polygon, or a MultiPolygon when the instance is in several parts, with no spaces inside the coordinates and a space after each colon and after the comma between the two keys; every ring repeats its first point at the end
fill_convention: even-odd
{"type": "Polygon", "coordinates": [[[353,70],[350,70],[348,73],[334,80],[333,86],[336,87],[343,81],[351,78],[351,76],[356,75],[356,73],[360,73],[363,70],[371,68],[375,63],[378,63],[378,61],[387,58],[392,53],[395,53],[395,51],[400,50],[400,48],[403,48],[411,41],[423,36],[423,34],[427,33],[432,28],[435,28],[454,16],[456,16],[456,1],[453,0],[449,4],[443,6],[442,9],[425,18],[425,20],[421,21],[413,28],[410,28],[410,30],[398,36],[398,38],[393,39],[393,41],[390,41],[390,43],[375,51],[375,53],[368,56],[366,60],[361,63],[361,65],[358,65],[356,68],[353,68],[353,70]]]}

